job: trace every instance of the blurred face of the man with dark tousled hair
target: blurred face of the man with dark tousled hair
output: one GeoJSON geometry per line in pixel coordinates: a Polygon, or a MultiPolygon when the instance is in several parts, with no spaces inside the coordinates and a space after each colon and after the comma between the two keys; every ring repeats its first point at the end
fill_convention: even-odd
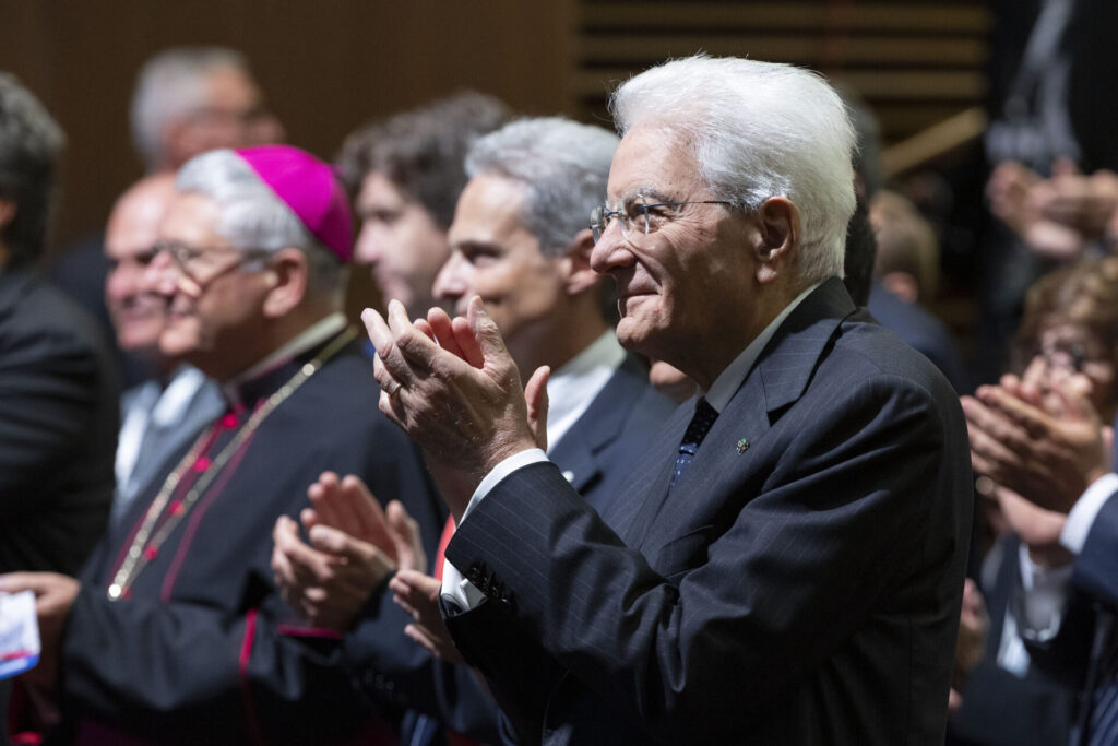
{"type": "Polygon", "coordinates": [[[364,178],[357,210],[361,232],[354,257],[369,265],[386,301],[400,301],[413,317],[426,314],[437,303],[432,286],[451,253],[446,233],[377,171],[364,178]]]}

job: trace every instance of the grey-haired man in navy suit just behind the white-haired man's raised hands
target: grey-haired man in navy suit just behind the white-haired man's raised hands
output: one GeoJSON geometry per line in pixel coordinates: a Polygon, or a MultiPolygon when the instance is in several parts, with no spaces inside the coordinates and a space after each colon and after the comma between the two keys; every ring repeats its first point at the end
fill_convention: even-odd
{"type": "MultiPolygon", "coordinates": [[[[594,238],[584,216],[605,190],[617,142],[601,128],[546,117],[508,124],[474,143],[465,161],[470,181],[449,228],[452,253],[434,284],[434,295],[463,313],[474,294],[484,298],[525,375],[539,366],[555,370],[548,381],[548,454],[598,511],[632,478],[632,465],[674,408],[617,343],[603,317],[601,278],[589,266],[594,238]]],[[[281,551],[296,540],[291,528],[281,529],[281,551]]],[[[297,563],[299,556],[290,556],[282,566],[297,563]]],[[[381,579],[370,577],[366,593],[373,594],[381,579]]],[[[418,595],[437,593],[435,577],[401,570],[400,579],[418,595]]],[[[293,592],[305,598],[307,588],[293,592]]],[[[314,604],[305,598],[301,605],[314,604]]],[[[401,617],[401,629],[408,621],[401,617]]],[[[358,625],[350,635],[356,667],[376,670],[399,689],[386,660],[399,642],[370,632],[358,625]]],[[[457,700],[471,687],[470,673],[440,676],[458,677],[456,695],[442,698],[448,707],[424,709],[461,727],[466,720],[456,712],[457,700]]],[[[430,689],[432,678],[420,686],[430,689]]]]}

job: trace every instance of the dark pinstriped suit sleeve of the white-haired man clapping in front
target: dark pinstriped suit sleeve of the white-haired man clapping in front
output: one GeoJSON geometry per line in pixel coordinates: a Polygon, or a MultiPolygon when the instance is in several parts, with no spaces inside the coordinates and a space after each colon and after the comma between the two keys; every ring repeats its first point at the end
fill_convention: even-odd
{"type": "MultiPolygon", "coordinates": [[[[447,551],[503,610],[487,638],[522,630],[667,743],[716,743],[761,718],[864,625],[882,594],[954,553],[944,541],[942,556],[928,557],[923,539],[932,508],[945,507],[942,403],[892,377],[850,388],[809,426],[784,422],[798,432],[774,470],[728,490],[721,535],[699,529],[665,545],[664,575],[553,465],[505,479],[447,551]]],[[[461,640],[467,659],[472,644],[461,640]]],[[[472,662],[502,677],[500,657],[472,662]]]]}

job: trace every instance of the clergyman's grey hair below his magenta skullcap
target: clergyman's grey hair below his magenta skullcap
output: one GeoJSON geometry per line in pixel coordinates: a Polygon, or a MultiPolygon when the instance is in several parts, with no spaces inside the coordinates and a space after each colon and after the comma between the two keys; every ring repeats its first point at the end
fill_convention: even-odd
{"type": "Polygon", "coordinates": [[[306,255],[311,282],[318,289],[334,292],[344,283],[341,261],[234,151],[211,150],[191,158],[179,170],[174,187],[217,204],[217,234],[234,248],[275,252],[294,247],[306,255]]]}

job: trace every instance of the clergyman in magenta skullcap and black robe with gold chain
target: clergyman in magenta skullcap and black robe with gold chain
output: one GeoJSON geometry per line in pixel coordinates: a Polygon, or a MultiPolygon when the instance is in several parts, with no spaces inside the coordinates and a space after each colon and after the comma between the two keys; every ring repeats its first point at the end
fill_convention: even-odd
{"type": "MultiPolygon", "coordinates": [[[[377,393],[341,313],[344,190],[331,167],[285,145],[206,153],[176,186],[148,273],[170,308],[160,348],[218,381],[227,408],[150,482],[79,582],[23,574],[0,587],[39,595],[40,668],[61,672],[76,743],[376,738],[386,725],[337,665],[338,635],[301,623],[268,567],[276,516],[297,516],[328,469],[399,498],[429,533],[442,523],[413,446],[353,416],[377,393]]],[[[338,572],[375,560],[349,556],[338,572]]]]}

